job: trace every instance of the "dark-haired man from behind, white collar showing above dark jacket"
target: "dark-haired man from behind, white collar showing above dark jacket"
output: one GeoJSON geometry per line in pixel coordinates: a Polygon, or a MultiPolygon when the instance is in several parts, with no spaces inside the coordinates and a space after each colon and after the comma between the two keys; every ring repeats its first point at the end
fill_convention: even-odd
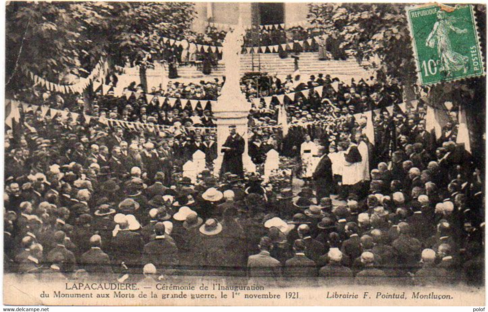
{"type": "Polygon", "coordinates": [[[144,263],[152,263],[158,269],[178,265],[178,247],[175,241],[165,235],[163,222],[154,226],[156,237],[144,245],[144,263]]]}

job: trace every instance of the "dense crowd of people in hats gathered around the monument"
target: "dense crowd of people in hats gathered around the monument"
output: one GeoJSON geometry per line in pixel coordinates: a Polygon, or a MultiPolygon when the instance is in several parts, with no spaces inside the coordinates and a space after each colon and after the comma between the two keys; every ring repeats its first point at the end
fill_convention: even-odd
{"type": "Polygon", "coordinates": [[[296,165],[295,179],[216,178],[207,101],[222,84],[172,83],[151,90],[150,101],[142,86],[129,98],[96,92],[89,107],[72,95],[20,92],[18,100],[80,116],[21,107],[20,125],[6,132],[6,272],[126,280],[212,268],[356,284],[484,284],[484,174],[456,143],[455,113],[435,136],[425,103],[400,109],[394,81],[271,77],[268,95],[322,93],[255,104],[249,80],[249,156],[262,165],[276,149],[296,165]],[[184,99],[201,101],[192,108],[184,99]],[[372,110],[368,124],[362,113],[372,110]],[[197,150],[207,169],[195,182],[182,166],[197,150]]]}

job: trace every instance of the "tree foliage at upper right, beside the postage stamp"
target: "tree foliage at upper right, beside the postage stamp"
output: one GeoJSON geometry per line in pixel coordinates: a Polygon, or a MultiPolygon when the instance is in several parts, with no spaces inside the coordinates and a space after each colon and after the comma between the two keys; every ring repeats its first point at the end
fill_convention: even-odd
{"type": "Polygon", "coordinates": [[[312,3],[308,18],[321,32],[341,38],[344,49],[359,61],[369,59],[380,78],[411,83],[415,64],[405,7],[398,3],[312,3]],[[377,58],[379,62],[374,61],[377,58]]]}

